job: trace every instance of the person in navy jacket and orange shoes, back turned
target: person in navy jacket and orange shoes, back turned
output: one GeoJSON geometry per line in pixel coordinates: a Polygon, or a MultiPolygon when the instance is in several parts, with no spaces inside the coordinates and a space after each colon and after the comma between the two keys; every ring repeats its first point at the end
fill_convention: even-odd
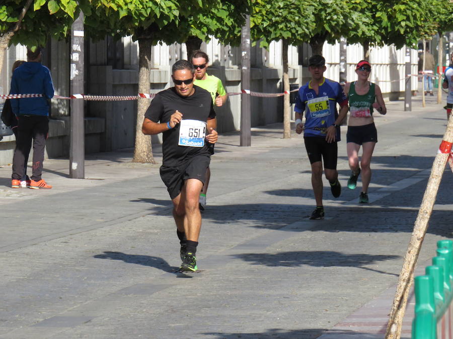
{"type": "Polygon", "coordinates": [[[11,79],[10,94],[42,94],[42,97],[11,99],[11,108],[18,117],[18,138],[13,157],[12,188],[21,187],[24,161],[33,140],[33,167],[30,188],[52,188],[42,178],[44,149],[49,133],[49,103],[54,94],[52,78],[47,67],[41,65],[42,51],[27,50],[28,62],[16,68],[11,79]]]}

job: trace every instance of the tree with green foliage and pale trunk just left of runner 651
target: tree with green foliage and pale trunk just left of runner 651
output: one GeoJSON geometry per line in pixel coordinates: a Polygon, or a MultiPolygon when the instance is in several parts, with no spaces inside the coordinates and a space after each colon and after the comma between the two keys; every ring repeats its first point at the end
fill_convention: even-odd
{"type": "MultiPolygon", "coordinates": [[[[138,91],[150,91],[151,47],[158,43],[184,42],[190,32],[189,18],[202,8],[201,0],[91,0],[83,9],[86,31],[93,39],[130,35],[138,41],[138,91]]],[[[139,98],[135,127],[134,162],[155,163],[151,139],[141,133],[149,99],[139,98]]]]}

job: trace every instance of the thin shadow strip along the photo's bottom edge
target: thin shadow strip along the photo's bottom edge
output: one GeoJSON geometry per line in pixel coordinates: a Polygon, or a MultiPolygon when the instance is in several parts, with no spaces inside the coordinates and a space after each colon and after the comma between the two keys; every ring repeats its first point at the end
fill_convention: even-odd
{"type": "MultiPolygon", "coordinates": [[[[282,328],[270,328],[264,332],[253,332],[253,333],[244,333],[244,332],[234,332],[234,333],[221,333],[221,332],[205,332],[200,333],[204,335],[209,335],[216,339],[270,339],[270,338],[280,338],[280,339],[315,339],[327,332],[326,328],[307,328],[307,329],[282,329],[282,328]]],[[[332,337],[338,337],[342,339],[346,338],[357,338],[357,339],[378,339],[382,338],[383,334],[370,334],[363,333],[359,331],[349,331],[349,330],[329,330],[329,334],[332,334],[332,337]]]]}

